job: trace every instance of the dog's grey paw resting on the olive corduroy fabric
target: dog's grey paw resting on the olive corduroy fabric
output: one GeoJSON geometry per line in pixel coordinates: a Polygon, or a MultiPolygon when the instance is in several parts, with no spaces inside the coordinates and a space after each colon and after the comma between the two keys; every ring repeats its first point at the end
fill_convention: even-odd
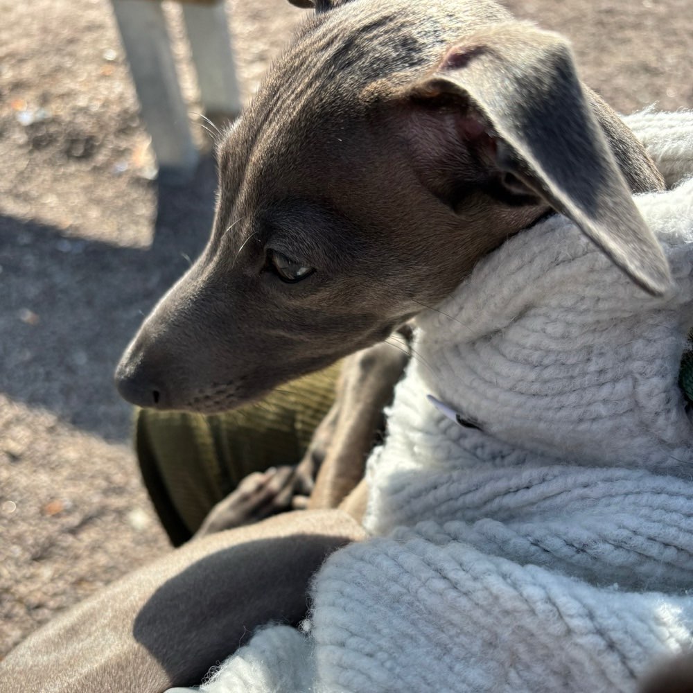
{"type": "Polygon", "coordinates": [[[312,489],[313,479],[297,466],[270,467],[267,471],[249,474],[209,511],[195,537],[304,508],[312,489]]]}

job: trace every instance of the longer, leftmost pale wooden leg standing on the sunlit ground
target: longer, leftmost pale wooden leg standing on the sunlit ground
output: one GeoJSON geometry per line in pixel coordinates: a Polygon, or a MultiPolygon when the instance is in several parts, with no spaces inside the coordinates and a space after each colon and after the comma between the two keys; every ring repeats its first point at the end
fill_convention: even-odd
{"type": "Polygon", "coordinates": [[[190,177],[198,164],[198,152],[161,5],[149,0],[113,0],[112,5],[159,171],[190,177]]]}

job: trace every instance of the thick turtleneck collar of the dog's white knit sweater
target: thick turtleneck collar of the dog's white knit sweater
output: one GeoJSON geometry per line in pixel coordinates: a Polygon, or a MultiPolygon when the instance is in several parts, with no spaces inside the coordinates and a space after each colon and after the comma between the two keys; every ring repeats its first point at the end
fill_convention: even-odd
{"type": "MultiPolygon", "coordinates": [[[[685,218],[690,188],[643,198],[659,218],[653,226],[667,213],[685,218]]],[[[459,444],[495,439],[516,448],[518,463],[667,473],[691,464],[693,430],[678,387],[693,322],[687,225],[660,235],[677,281],[667,297],[624,281],[554,216],[509,240],[439,310],[421,315],[413,369],[457,414],[459,444]]]]}

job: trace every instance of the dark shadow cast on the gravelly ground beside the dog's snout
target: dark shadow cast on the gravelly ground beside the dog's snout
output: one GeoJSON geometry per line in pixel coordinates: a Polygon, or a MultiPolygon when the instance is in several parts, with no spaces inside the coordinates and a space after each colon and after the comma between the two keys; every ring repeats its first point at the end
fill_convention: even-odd
{"type": "Polygon", "coordinates": [[[215,189],[210,158],[185,186],[160,184],[148,249],[0,216],[0,392],[105,439],[127,438],[131,412],[112,383],[116,362],[204,247],[215,189]]]}

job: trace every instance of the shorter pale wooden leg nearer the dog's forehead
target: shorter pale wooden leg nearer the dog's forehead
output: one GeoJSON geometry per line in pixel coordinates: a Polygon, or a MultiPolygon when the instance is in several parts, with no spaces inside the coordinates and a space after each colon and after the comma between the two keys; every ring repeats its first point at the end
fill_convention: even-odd
{"type": "Polygon", "coordinates": [[[183,17],[204,111],[215,119],[233,120],[240,114],[240,90],[224,3],[184,2],[183,17]]]}

